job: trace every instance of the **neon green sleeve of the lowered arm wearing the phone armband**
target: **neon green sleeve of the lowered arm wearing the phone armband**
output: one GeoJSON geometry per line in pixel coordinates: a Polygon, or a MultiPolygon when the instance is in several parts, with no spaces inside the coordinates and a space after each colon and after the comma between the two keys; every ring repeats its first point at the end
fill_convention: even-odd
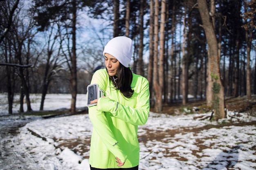
{"type": "MultiPolygon", "coordinates": [[[[100,88],[104,87],[104,82],[101,76],[97,74],[92,77],[91,84],[97,83],[100,88]]],[[[97,109],[97,105],[88,107],[88,113],[90,121],[92,122],[94,130],[115,157],[118,157],[122,162],[125,162],[127,155],[121,150],[118,141],[115,139],[113,132],[111,131],[108,120],[104,112],[97,109]]]]}

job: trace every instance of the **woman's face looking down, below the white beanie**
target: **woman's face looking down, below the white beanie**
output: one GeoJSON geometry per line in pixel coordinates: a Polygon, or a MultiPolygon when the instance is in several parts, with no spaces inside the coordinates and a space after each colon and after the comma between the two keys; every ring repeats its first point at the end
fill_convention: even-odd
{"type": "Polygon", "coordinates": [[[108,69],[108,74],[110,76],[117,75],[120,67],[120,63],[117,60],[117,58],[108,53],[105,53],[104,57],[105,57],[105,65],[106,65],[106,68],[108,69]]]}

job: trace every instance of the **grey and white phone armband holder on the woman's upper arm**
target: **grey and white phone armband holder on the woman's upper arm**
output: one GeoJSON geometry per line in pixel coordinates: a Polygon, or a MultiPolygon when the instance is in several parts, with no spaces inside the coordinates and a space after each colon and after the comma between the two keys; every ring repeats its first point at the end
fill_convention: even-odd
{"type": "Polygon", "coordinates": [[[90,102],[94,99],[99,99],[103,94],[98,84],[89,84],[87,86],[87,106],[97,105],[97,103],[90,104],[90,102]]]}

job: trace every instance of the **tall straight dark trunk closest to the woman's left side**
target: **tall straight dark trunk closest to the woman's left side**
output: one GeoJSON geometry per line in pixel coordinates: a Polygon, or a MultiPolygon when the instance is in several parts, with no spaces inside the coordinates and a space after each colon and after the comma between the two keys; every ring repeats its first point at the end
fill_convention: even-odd
{"type": "Polygon", "coordinates": [[[76,112],[76,94],[77,94],[77,75],[76,75],[76,0],[72,1],[73,11],[72,11],[72,56],[71,56],[71,108],[72,113],[76,112]]]}

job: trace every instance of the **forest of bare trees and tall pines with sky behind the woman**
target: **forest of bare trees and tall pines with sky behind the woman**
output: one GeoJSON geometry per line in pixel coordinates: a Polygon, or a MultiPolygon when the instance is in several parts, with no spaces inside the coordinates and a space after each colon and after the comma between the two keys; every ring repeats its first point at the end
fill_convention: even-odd
{"type": "Polygon", "coordinates": [[[216,119],[225,97],[256,94],[256,0],[0,0],[0,93],[86,93],[104,68],[113,37],[133,40],[130,64],[150,83],[156,113],[188,96],[205,99],[216,119]]]}

